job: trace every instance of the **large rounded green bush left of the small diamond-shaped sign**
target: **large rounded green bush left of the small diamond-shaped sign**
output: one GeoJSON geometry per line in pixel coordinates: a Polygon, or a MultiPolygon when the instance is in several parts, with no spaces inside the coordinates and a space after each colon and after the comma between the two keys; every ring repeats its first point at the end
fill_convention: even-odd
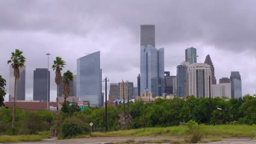
{"type": "Polygon", "coordinates": [[[90,125],[77,116],[66,118],[60,126],[59,139],[70,139],[77,135],[90,134],[90,125]]]}

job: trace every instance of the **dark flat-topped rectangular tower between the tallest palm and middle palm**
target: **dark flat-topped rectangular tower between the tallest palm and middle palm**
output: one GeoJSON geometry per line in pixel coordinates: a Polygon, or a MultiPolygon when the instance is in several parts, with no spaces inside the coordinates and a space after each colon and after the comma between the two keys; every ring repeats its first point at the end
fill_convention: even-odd
{"type": "Polygon", "coordinates": [[[33,79],[33,100],[50,101],[50,71],[37,68],[33,79]]]}

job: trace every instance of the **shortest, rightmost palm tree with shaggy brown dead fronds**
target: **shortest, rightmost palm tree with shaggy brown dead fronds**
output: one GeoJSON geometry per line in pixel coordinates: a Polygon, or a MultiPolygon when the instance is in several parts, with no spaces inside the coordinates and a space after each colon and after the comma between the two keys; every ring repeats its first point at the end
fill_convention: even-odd
{"type": "Polygon", "coordinates": [[[73,74],[71,73],[71,71],[68,70],[66,73],[63,74],[63,76],[64,76],[64,79],[62,80],[62,82],[64,83],[64,86],[62,87],[62,90],[64,95],[64,103],[66,103],[66,99],[70,94],[69,83],[73,81],[73,74]]]}

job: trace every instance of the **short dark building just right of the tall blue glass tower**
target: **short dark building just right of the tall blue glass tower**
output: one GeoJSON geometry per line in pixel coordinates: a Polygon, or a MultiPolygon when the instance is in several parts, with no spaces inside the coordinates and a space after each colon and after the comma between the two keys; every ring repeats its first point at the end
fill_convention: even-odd
{"type": "Polygon", "coordinates": [[[170,71],[165,71],[165,93],[166,94],[176,94],[176,76],[170,76],[170,71]]]}

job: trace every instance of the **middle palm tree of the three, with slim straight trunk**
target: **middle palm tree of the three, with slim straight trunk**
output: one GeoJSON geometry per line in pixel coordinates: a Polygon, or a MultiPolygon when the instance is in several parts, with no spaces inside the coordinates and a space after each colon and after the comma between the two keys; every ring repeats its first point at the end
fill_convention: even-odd
{"type": "Polygon", "coordinates": [[[57,111],[59,110],[59,85],[61,83],[61,70],[66,65],[66,62],[61,57],[56,57],[53,64],[53,70],[55,70],[55,83],[57,85],[57,111]]]}

